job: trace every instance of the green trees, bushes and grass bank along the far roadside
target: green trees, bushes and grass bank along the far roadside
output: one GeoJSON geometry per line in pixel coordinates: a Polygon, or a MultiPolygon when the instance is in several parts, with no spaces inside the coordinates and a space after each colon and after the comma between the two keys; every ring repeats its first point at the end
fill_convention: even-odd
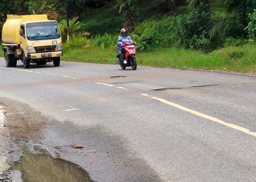
{"type": "MultiPolygon", "coordinates": [[[[29,11],[49,11],[34,1],[27,3],[29,11]]],[[[62,31],[62,60],[117,64],[116,41],[126,27],[137,43],[138,65],[256,73],[254,0],[69,1],[78,6],[69,19],[69,42],[65,2],[52,6],[62,31]]]]}

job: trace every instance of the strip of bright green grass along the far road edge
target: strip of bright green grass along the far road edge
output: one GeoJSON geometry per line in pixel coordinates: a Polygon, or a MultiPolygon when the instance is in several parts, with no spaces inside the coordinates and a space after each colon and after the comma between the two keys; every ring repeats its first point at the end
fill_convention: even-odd
{"type": "MultiPolygon", "coordinates": [[[[86,63],[117,64],[117,50],[86,49],[64,52],[62,60],[86,63]]],[[[166,48],[153,52],[136,52],[138,66],[220,70],[256,73],[256,44],[229,46],[210,54],[184,48],[166,48]]]]}

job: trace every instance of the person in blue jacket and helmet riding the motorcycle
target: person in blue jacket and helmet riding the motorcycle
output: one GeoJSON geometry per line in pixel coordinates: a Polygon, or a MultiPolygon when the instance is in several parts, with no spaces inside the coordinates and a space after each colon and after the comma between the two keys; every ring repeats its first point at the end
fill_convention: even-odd
{"type": "Polygon", "coordinates": [[[132,42],[132,39],[130,36],[127,35],[127,30],[125,28],[122,28],[120,30],[121,36],[118,36],[118,41],[117,41],[117,49],[118,52],[120,53],[120,61],[121,63],[126,64],[127,60],[125,60],[125,48],[124,48],[124,42],[132,42]]]}

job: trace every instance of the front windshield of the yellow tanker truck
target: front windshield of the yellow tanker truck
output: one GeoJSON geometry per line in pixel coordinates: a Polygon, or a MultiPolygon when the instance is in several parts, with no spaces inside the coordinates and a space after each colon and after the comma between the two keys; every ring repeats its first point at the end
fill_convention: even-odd
{"type": "Polygon", "coordinates": [[[26,25],[28,40],[44,40],[60,38],[60,30],[56,21],[28,23],[26,25]]]}

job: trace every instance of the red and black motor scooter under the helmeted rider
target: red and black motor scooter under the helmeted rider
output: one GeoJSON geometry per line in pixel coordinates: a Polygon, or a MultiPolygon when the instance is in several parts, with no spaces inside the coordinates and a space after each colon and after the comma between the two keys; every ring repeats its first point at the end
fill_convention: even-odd
{"type": "Polygon", "coordinates": [[[123,43],[125,45],[125,60],[123,63],[120,61],[120,53],[117,55],[117,60],[118,64],[120,64],[121,68],[124,70],[126,67],[131,66],[132,70],[136,70],[137,68],[137,62],[135,59],[135,41],[132,42],[125,42],[123,43]]]}

